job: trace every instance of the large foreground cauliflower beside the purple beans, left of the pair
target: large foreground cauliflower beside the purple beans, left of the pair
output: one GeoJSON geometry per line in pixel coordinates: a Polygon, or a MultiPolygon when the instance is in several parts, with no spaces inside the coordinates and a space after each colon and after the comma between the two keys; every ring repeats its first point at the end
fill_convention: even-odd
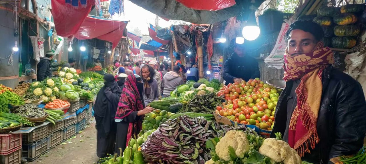
{"type": "Polygon", "coordinates": [[[225,161],[230,160],[229,146],[234,148],[236,156],[243,158],[244,154],[249,151],[250,147],[247,134],[245,134],[243,131],[228,131],[215,147],[216,153],[220,159],[225,161]]]}

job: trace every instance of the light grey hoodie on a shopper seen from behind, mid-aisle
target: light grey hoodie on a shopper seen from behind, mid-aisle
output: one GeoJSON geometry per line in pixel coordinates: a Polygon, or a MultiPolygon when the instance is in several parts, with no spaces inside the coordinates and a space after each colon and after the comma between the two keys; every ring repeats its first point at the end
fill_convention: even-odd
{"type": "Polygon", "coordinates": [[[169,71],[163,77],[163,84],[161,87],[164,88],[164,97],[170,96],[170,92],[174,91],[178,85],[184,84],[182,77],[174,71],[169,71]]]}

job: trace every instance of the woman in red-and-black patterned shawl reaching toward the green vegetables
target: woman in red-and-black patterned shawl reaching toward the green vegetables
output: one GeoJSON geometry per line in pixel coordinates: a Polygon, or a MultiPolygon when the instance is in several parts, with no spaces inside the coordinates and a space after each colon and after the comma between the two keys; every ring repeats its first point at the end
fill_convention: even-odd
{"type": "Polygon", "coordinates": [[[138,75],[127,76],[115,116],[117,122],[116,153],[118,154],[120,153],[118,148],[122,148],[123,152],[127,146],[127,141],[130,141],[134,134],[137,136],[142,130],[141,116],[154,110],[150,106],[145,108],[143,87],[141,77],[138,75]]]}

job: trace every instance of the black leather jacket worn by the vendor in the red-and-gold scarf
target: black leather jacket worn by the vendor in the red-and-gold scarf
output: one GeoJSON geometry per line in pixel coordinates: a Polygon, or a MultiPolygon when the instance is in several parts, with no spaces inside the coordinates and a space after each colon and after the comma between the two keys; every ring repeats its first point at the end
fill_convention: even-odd
{"type": "MultiPolygon", "coordinates": [[[[320,142],[302,159],[315,164],[333,164],[329,159],[355,154],[362,147],[366,132],[366,100],[361,85],[332,66],[324,70],[322,84],[317,122],[320,142]]],[[[286,100],[291,87],[292,81],[287,82],[277,103],[271,138],[275,138],[276,132],[283,134],[289,127],[286,125],[286,100]]]]}

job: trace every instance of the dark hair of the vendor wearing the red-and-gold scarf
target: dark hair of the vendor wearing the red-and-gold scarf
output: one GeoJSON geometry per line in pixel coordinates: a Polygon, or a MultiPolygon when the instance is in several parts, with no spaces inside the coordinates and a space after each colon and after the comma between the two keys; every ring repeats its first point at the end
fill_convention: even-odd
{"type": "Polygon", "coordinates": [[[320,41],[324,37],[324,32],[321,26],[318,23],[313,22],[312,20],[298,20],[290,25],[290,28],[287,30],[285,35],[285,41],[287,42],[290,39],[290,33],[292,30],[303,30],[312,34],[316,41],[320,41]]]}

